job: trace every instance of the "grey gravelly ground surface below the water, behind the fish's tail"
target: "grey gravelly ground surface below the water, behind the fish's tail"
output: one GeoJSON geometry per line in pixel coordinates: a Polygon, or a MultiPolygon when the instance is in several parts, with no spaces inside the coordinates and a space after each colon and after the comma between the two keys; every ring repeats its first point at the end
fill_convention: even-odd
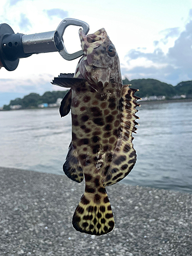
{"type": "Polygon", "coordinates": [[[83,193],[65,175],[0,167],[1,255],[192,255],[192,195],[108,187],[115,229],[96,237],[72,227],[83,193]]]}

